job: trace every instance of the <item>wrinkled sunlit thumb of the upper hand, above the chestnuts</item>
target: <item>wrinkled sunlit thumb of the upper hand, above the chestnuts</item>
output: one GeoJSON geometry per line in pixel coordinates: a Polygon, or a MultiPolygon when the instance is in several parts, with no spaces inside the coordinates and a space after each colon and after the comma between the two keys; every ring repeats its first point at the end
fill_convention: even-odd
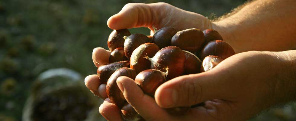
{"type": "Polygon", "coordinates": [[[158,25],[162,16],[166,15],[168,6],[171,5],[167,3],[129,3],[119,13],[111,16],[107,25],[111,29],[150,27],[153,30],[152,25],[158,25]]]}

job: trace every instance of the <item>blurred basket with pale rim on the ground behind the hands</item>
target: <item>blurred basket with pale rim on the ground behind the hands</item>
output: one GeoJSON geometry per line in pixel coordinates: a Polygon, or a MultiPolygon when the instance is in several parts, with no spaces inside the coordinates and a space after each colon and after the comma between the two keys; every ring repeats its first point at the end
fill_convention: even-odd
{"type": "Polygon", "coordinates": [[[77,116],[85,118],[84,121],[105,120],[98,112],[102,100],[98,100],[90,93],[81,80],[77,72],[66,68],[50,69],[41,73],[34,82],[31,94],[24,105],[22,120],[45,120],[42,118],[46,116],[50,117],[50,120],[73,121],[77,116]],[[50,106],[47,106],[48,104],[50,106]],[[76,110],[85,110],[87,107],[91,107],[87,113],[76,110]]]}

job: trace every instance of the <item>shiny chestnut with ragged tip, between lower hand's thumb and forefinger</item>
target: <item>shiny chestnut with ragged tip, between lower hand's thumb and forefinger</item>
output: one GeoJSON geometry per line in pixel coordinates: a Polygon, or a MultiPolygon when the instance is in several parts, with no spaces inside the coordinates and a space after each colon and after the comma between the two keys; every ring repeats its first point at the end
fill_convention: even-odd
{"type": "Polygon", "coordinates": [[[140,72],[135,79],[135,82],[143,90],[144,93],[154,97],[156,89],[164,82],[166,82],[166,77],[168,73],[168,68],[166,68],[166,73],[156,69],[148,69],[140,72]]]}

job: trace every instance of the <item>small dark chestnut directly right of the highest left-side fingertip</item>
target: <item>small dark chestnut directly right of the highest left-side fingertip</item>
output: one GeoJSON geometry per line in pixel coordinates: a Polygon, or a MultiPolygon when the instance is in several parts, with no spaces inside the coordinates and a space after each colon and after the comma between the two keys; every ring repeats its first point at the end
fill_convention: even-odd
{"type": "Polygon", "coordinates": [[[123,61],[123,60],[127,60],[127,57],[125,57],[125,54],[124,54],[123,47],[118,47],[111,52],[110,57],[109,57],[110,63],[114,63],[117,61],[123,61]]]}

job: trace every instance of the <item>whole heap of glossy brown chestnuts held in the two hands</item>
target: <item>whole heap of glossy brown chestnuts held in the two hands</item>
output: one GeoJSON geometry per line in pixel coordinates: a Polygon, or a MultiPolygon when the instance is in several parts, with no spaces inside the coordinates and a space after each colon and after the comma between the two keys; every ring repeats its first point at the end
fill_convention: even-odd
{"type": "MultiPolygon", "coordinates": [[[[109,99],[121,108],[121,116],[127,121],[143,118],[125,100],[116,83],[118,77],[130,77],[144,93],[154,97],[162,83],[182,75],[211,70],[235,54],[217,31],[196,28],[182,31],[173,27],[157,31],[155,28],[153,36],[130,34],[127,29],[114,30],[109,35],[108,48],[110,63],[98,67],[98,77],[106,83],[109,99]]],[[[190,108],[166,110],[173,115],[184,115],[190,108]]]]}

